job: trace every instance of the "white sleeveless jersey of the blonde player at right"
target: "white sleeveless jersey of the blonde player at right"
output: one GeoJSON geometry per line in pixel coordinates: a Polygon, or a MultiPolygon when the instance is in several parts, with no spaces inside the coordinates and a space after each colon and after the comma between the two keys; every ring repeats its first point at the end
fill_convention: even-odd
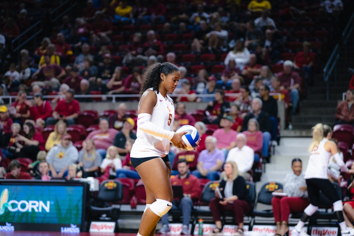
{"type": "Polygon", "coordinates": [[[331,152],[326,151],[325,143],[328,139],[323,138],[321,142],[314,146],[310,152],[310,159],[305,172],[305,179],[328,179],[327,168],[328,161],[331,157],[331,152]]]}

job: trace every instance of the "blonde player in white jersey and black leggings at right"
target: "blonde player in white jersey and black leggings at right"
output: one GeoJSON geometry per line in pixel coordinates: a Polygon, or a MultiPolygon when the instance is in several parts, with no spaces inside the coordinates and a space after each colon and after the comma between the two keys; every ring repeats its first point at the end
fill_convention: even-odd
{"type": "Polygon", "coordinates": [[[321,123],[313,127],[313,142],[309,147],[310,159],[305,172],[305,179],[307,185],[308,196],[310,205],[306,207],[301,220],[297,223],[292,230],[292,236],[303,236],[301,232],[302,227],[308,218],[313,215],[319,206],[320,191],[324,194],[333,204],[333,211],[338,219],[341,228],[342,236],[353,236],[354,230],[349,229],[343,218],[343,203],[339,197],[337,190],[327,177],[327,165],[330,157],[333,155],[337,164],[341,167],[342,171],[354,173],[353,170],[348,170],[343,160],[340,158],[337,145],[330,141],[332,138],[332,129],[328,125],[321,123]]]}

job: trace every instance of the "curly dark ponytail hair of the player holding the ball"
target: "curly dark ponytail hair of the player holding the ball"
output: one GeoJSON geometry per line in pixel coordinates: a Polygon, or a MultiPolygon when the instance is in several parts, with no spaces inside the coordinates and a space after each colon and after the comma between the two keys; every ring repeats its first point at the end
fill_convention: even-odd
{"type": "Polygon", "coordinates": [[[167,76],[175,71],[179,71],[178,67],[169,62],[164,62],[162,64],[155,63],[153,65],[150,65],[143,75],[144,83],[140,91],[140,97],[149,88],[153,88],[154,91],[157,91],[159,93],[159,85],[161,83],[160,74],[163,73],[165,76],[167,76]]]}

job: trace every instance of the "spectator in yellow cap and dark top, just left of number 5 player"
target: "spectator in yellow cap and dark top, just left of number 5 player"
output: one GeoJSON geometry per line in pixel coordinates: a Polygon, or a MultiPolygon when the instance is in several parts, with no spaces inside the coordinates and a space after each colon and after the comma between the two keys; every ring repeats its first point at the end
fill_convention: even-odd
{"type": "Polygon", "coordinates": [[[135,142],[136,133],[133,131],[134,127],[134,120],[131,118],[127,118],[124,120],[121,131],[115,136],[113,145],[117,147],[119,155],[126,155],[127,152],[129,152],[125,148],[125,143],[127,142],[127,140],[131,141],[131,143],[135,142]]]}

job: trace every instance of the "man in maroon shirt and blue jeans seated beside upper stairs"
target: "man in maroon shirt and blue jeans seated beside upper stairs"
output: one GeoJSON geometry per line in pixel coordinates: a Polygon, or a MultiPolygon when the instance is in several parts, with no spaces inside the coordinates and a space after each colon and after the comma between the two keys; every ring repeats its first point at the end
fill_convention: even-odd
{"type": "Polygon", "coordinates": [[[280,81],[280,89],[288,90],[290,92],[290,100],[292,102],[292,115],[296,114],[297,104],[300,99],[299,89],[302,78],[299,73],[292,71],[293,63],[285,61],[283,64],[284,71],[279,72],[276,77],[280,81]]]}

